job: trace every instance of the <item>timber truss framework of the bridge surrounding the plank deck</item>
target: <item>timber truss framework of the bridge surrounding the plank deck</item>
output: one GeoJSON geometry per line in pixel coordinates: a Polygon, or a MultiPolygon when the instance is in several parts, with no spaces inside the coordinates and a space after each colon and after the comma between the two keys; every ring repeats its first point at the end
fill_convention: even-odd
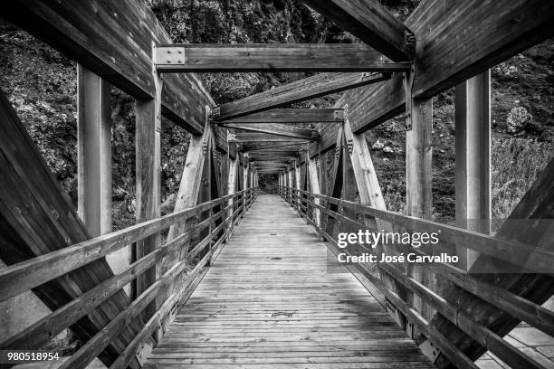
{"type": "MultiPolygon", "coordinates": [[[[15,0],[3,9],[6,20],[80,64],[81,107],[94,107],[106,119],[107,83],[137,100],[140,224],[91,240],[96,234],[87,218],[95,216],[94,201],[81,198],[80,206],[88,207],[80,209],[87,214],[81,219],[0,94],[0,257],[7,265],[0,271],[0,296],[4,301],[32,290],[55,310],[3,337],[2,349],[37,349],[69,326],[85,344],[63,367],[84,367],[98,356],[110,367],[139,368],[139,346],[154,345],[152,336],[163,334],[186,288],[201,278],[216,247],[252,203],[258,175],[268,173],[279,176],[283,197],[331,249],[339,224],[349,230],[438,228],[467,256],[468,268],[525,268],[526,273],[483,277],[449,264],[420,270],[384,264],[381,278],[368,270],[356,273],[374,283],[391,315],[438,367],[473,368],[486,350],[514,367],[542,367],[501,337],[521,321],[554,336],[554,314],[540,306],[554,293],[552,273],[544,270],[554,263],[552,229],[516,232],[507,222],[492,237],[431,222],[430,138],[433,95],[456,87],[464,109],[456,118],[456,164],[463,166],[457,172],[457,191],[463,194],[456,196],[456,206],[467,210],[468,202],[476,203],[464,221],[469,213],[486,218],[490,167],[476,157],[487,158],[490,151],[490,127],[483,127],[490,125],[487,70],[552,35],[552,2],[429,0],[404,24],[376,0],[305,3],[363,43],[170,44],[155,15],[132,0],[15,0]],[[325,73],[217,107],[192,71],[325,73]],[[91,90],[98,92],[95,99],[91,90]],[[346,92],[333,109],[286,109],[338,91],[346,92]],[[387,212],[363,136],[399,113],[406,113],[406,215],[387,212]],[[165,217],[160,216],[162,115],[191,133],[176,213],[165,217]],[[480,194],[466,191],[467,173],[480,174],[480,194]],[[161,245],[165,229],[167,243],[161,245]],[[134,244],[134,264],[114,275],[104,257],[128,243],[134,244]],[[200,261],[188,274],[196,257],[200,261]],[[121,288],[131,282],[129,298],[121,288]]],[[[91,123],[95,118],[85,114],[79,119],[88,122],[83,129],[102,123],[91,123]]],[[[110,155],[101,139],[82,142],[86,136],[80,131],[81,164],[103,150],[104,169],[83,173],[91,168],[80,166],[81,182],[99,175],[90,188],[110,188],[104,173],[110,155]]],[[[553,177],[551,161],[511,218],[553,219],[553,177]]]]}

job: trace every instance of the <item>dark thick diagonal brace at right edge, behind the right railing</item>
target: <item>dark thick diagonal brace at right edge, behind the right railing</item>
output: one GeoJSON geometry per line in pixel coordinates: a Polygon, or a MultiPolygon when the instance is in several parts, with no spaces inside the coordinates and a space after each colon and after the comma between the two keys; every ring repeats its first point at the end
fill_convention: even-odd
{"type": "MultiPolygon", "coordinates": [[[[554,218],[554,159],[551,159],[548,166],[540,173],[537,181],[530,187],[529,191],[521,198],[521,202],[510,214],[507,222],[496,233],[496,236],[510,241],[530,242],[538,247],[552,250],[553,231],[549,228],[549,222],[529,222],[528,229],[520,226],[513,226],[511,220],[548,220],[554,218]]],[[[521,258],[521,263],[525,262],[521,258]]],[[[488,255],[480,255],[473,264],[473,271],[495,270],[499,266],[506,268],[505,262],[495,260],[488,255]]],[[[551,263],[549,264],[552,265],[551,263]]],[[[554,279],[550,276],[541,274],[476,274],[475,277],[482,282],[488,282],[501,289],[507,289],[521,299],[525,298],[537,304],[542,304],[554,294],[554,279]]],[[[488,326],[499,336],[505,336],[511,329],[520,323],[519,319],[511,317],[501,309],[489,304],[488,299],[483,300],[465,292],[461,289],[452,287],[446,296],[448,301],[461,301],[461,308],[471,314],[475,320],[488,326]]],[[[547,319],[543,319],[547,320],[547,319]]],[[[464,353],[472,358],[482,355],[485,349],[471,337],[463,334],[458,328],[446,321],[442,316],[435,316],[431,322],[439,331],[444,332],[454,345],[460,347],[464,353]]],[[[440,367],[446,367],[448,362],[439,361],[440,367]]]]}

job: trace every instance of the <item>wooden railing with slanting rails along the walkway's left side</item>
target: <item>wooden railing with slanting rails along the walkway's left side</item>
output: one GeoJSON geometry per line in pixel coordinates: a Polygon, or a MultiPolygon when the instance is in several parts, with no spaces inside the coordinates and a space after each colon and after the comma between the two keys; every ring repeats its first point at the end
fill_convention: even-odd
{"type": "Polygon", "coordinates": [[[148,289],[135,298],[129,307],[121,311],[117,317],[111,319],[108,326],[100,330],[96,336],[92,336],[61,366],[61,368],[71,369],[86,367],[110,345],[110,341],[118,336],[131,320],[138,319],[145,307],[157,300],[155,314],[149,317],[139,335],[135,336],[118,359],[110,365],[110,369],[127,367],[137,354],[140,345],[150,340],[153,334],[158,334],[158,336],[163,334],[164,326],[167,325],[167,320],[170,320],[171,315],[176,312],[179,302],[195,288],[197,277],[205,270],[205,266],[209,265],[210,260],[219,250],[219,246],[234,231],[256,195],[257,189],[246,189],[207,203],[201,203],[194,208],[142,222],[127,229],[102,235],[0,270],[0,301],[5,301],[49,280],[60,278],[72,270],[99,260],[133,242],[162,232],[174,224],[186,222],[202,213],[210,212],[207,219],[196,222],[186,232],[168,240],[155,251],[129,265],[127,269],[101,282],[95,288],[41,318],[22,332],[14,336],[0,337],[1,349],[39,349],[53,336],[72,326],[81,317],[90,314],[96,307],[137,279],[146,270],[153,267],[161,270],[161,260],[171,251],[179,250],[190,244],[181,260],[175,260],[163,274],[158,272],[157,279],[148,289]],[[195,241],[198,235],[205,232],[207,235],[202,240],[195,241]],[[200,260],[195,264],[194,260],[198,258],[200,260]],[[160,297],[162,297],[161,301],[160,297]]]}

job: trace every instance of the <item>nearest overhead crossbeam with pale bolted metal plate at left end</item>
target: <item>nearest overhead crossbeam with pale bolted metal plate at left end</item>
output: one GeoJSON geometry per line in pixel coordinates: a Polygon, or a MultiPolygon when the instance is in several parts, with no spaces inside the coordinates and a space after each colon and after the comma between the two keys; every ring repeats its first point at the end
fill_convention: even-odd
{"type": "Polygon", "coordinates": [[[156,68],[167,72],[406,71],[363,43],[162,44],[156,68]]]}

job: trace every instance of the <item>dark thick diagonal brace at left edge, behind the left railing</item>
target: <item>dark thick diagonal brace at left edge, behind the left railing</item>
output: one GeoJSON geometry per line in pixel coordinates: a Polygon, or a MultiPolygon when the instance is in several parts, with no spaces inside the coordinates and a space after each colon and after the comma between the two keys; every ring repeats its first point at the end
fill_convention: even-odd
{"type": "MultiPolygon", "coordinates": [[[[2,91],[0,122],[0,258],[12,265],[88,240],[90,236],[85,225],[62,195],[2,91]]],[[[110,266],[102,258],[66,277],[47,282],[33,292],[47,307],[55,310],[111,276],[110,266]]],[[[128,305],[129,298],[119,291],[88,317],[81,318],[72,330],[86,341],[128,305]]],[[[100,360],[110,364],[138,331],[137,324],[130,324],[100,355],[100,360]]]]}

